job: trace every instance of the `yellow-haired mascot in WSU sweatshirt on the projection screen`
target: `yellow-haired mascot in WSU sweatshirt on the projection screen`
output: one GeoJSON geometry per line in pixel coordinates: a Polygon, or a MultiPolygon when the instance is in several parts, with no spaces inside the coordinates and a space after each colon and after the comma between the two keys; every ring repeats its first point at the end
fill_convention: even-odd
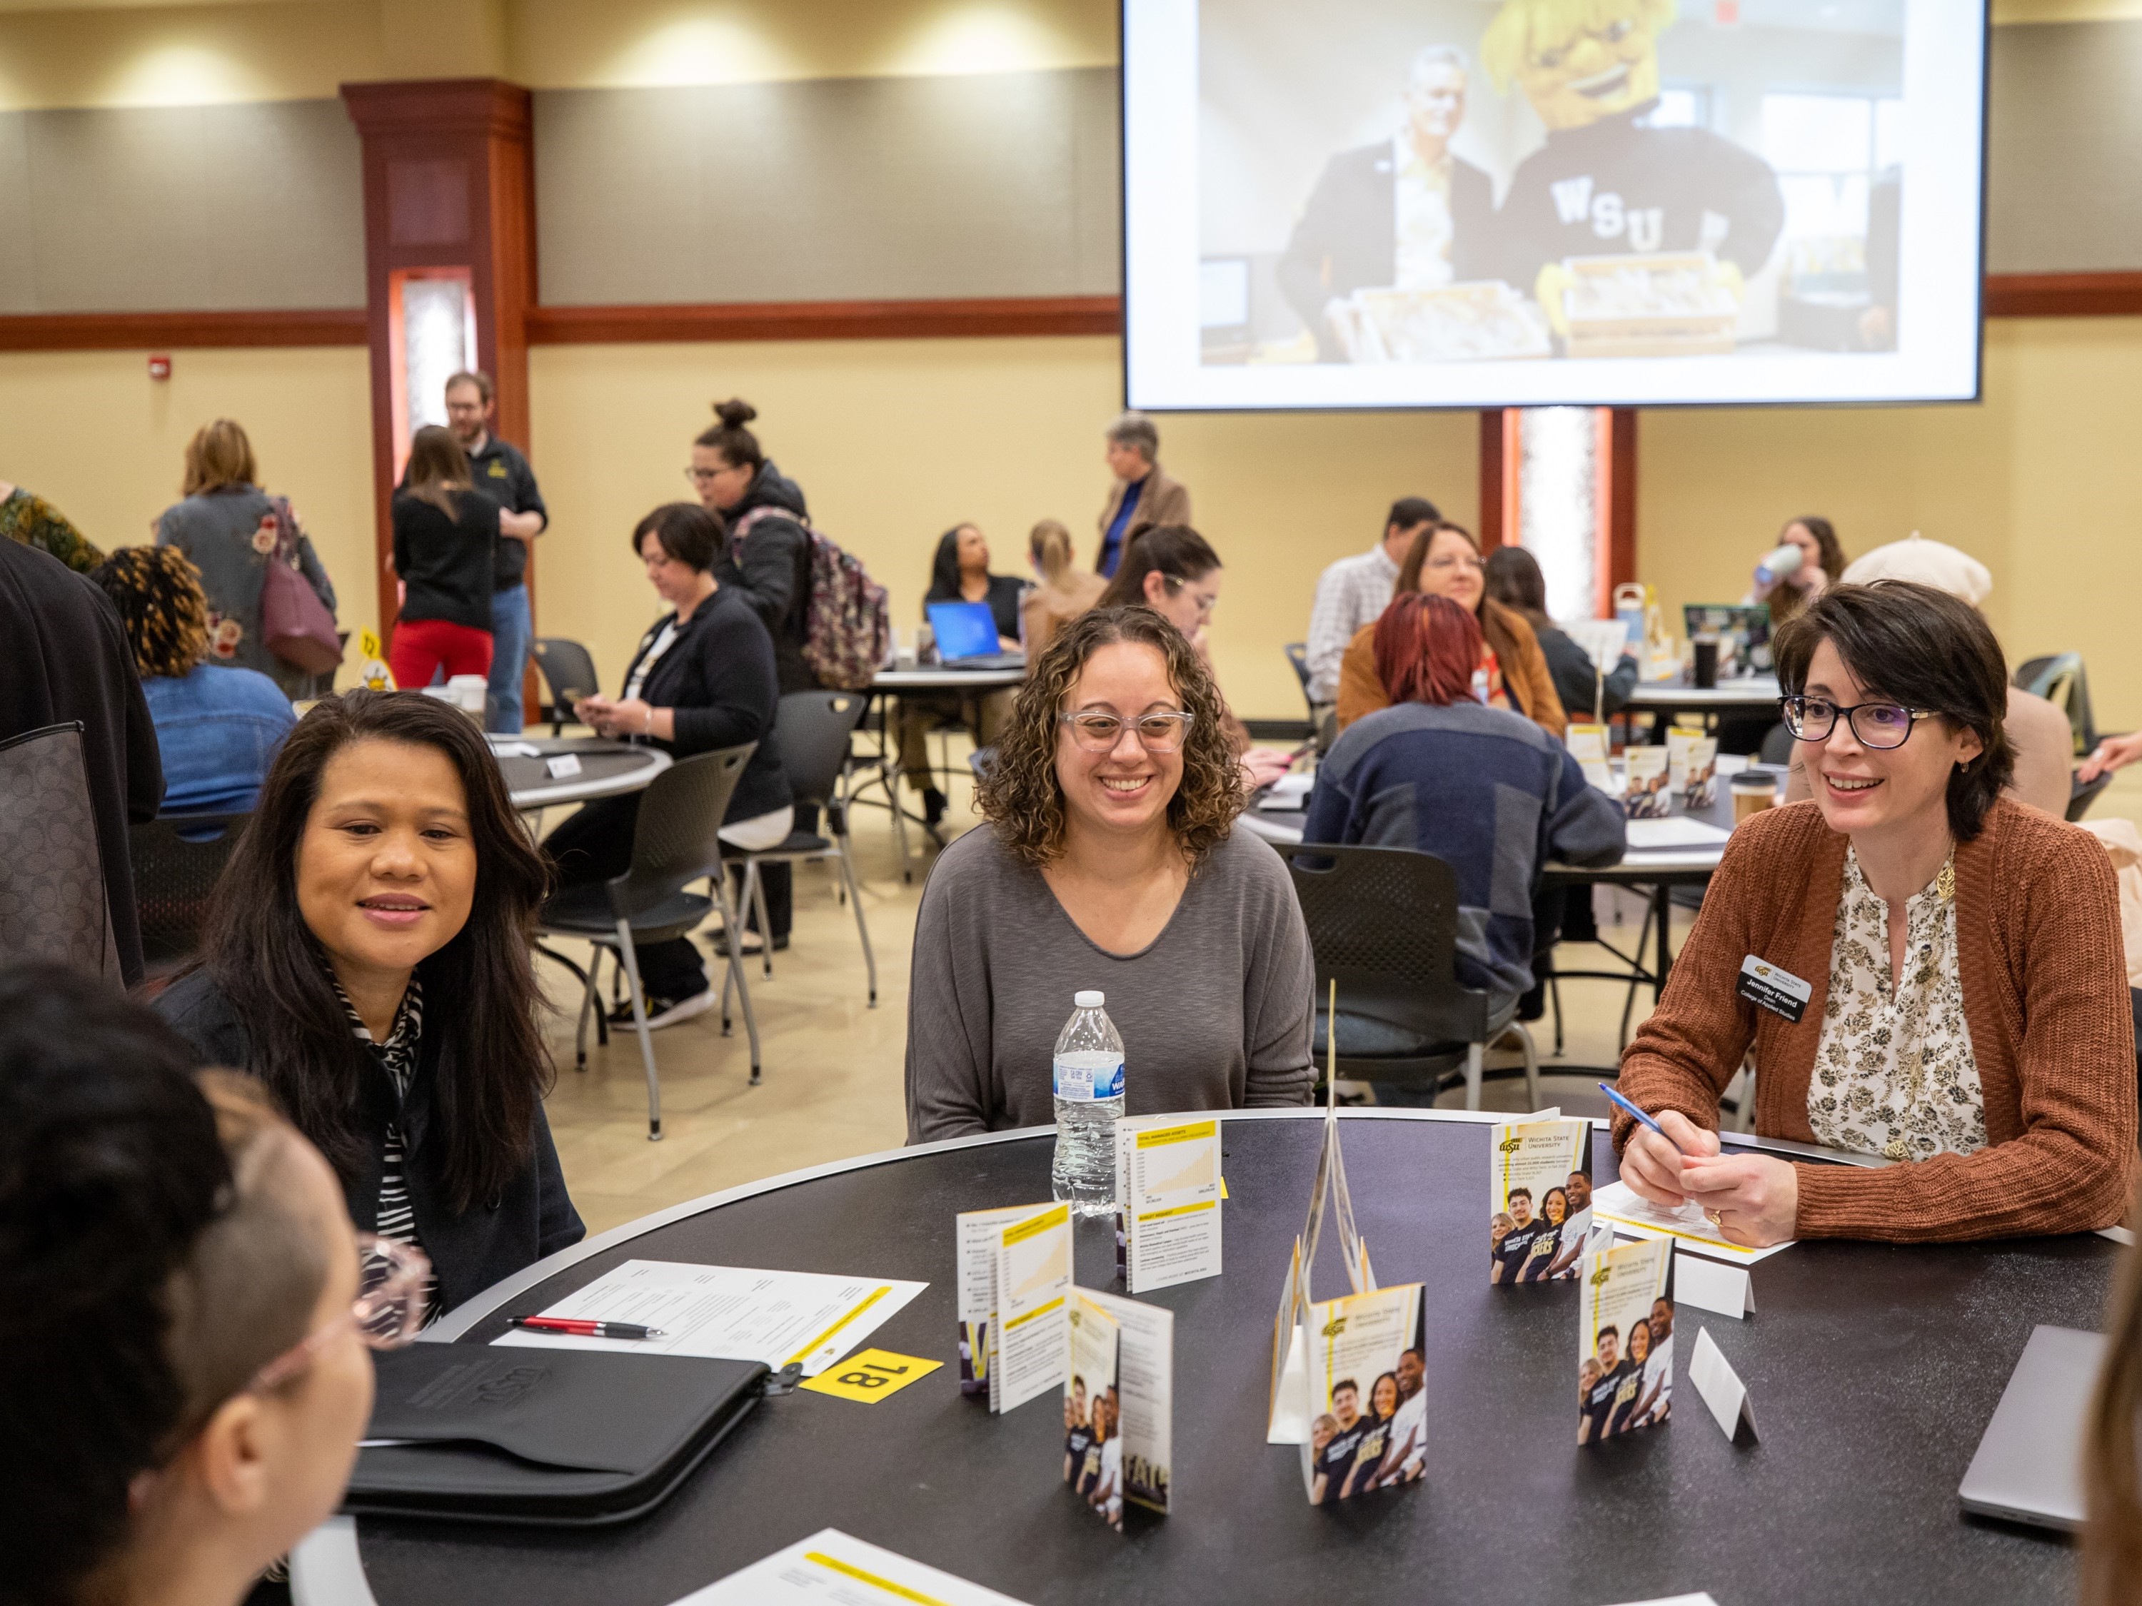
{"type": "Polygon", "coordinates": [[[1784,227],[1778,176],[1709,128],[1645,128],[1658,36],[1675,0],[1504,0],[1480,41],[1497,88],[1514,79],[1547,124],[1504,197],[1499,276],[1562,330],[1564,257],[1711,251],[1739,300],[1784,227]]]}

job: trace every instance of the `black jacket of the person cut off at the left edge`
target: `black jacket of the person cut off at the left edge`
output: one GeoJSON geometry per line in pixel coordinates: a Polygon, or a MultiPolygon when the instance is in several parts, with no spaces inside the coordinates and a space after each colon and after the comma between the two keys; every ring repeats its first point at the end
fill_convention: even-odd
{"type": "Polygon", "coordinates": [[[81,722],[120,974],[141,981],[126,822],[156,818],[163,758],[118,608],[49,552],[0,535],[0,741],[81,722]]]}

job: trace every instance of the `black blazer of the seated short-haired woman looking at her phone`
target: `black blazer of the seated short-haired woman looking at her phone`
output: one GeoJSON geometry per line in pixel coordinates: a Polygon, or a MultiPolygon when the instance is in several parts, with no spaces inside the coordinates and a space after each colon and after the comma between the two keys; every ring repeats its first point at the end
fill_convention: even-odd
{"type": "MultiPolygon", "coordinates": [[[[662,615],[640,636],[632,664],[625,666],[625,685],[632,685],[632,672],[675,617],[662,615]]],[[[724,582],[698,606],[655,660],[640,698],[653,709],[677,711],[677,737],[649,743],[673,758],[758,743],[737,779],[724,820],[752,820],[790,801],[782,749],[773,741],[773,709],[780,702],[773,642],[741,589],[724,582]]]]}

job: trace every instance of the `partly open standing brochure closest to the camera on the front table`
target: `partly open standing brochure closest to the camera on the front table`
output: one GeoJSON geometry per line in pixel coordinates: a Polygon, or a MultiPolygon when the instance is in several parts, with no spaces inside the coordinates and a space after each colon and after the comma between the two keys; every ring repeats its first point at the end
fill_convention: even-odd
{"type": "Polygon", "coordinates": [[[1116,1531],[1127,1503],[1167,1516],[1174,1313],[1073,1289],[1067,1330],[1065,1486],[1116,1531]]]}

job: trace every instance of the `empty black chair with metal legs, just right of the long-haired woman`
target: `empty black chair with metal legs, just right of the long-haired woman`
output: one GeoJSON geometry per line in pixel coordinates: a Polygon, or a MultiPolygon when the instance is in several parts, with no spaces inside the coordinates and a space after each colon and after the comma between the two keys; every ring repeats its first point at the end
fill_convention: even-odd
{"type": "MultiPolygon", "coordinates": [[[[580,996],[580,1026],[574,1036],[576,1069],[587,1069],[587,1011],[595,1004],[595,974],[602,951],[625,968],[632,991],[632,1024],[640,1034],[640,1060],[647,1066],[647,1139],[662,1137],[662,1081],[655,1075],[655,1049],[647,1032],[647,994],[640,991],[640,964],[634,942],[668,942],[690,936],[715,908],[722,927],[735,938],[743,929],[728,897],[722,874],[722,816],[737,790],[737,777],[752,760],[752,749],[722,747],[711,754],[679,758],[655,775],[640,794],[638,822],[632,827],[632,867],[615,880],[568,887],[555,893],[538,916],[540,936],[570,936],[598,949],[587,968],[587,991],[580,996]],[[711,880],[715,897],[688,893],[694,880],[711,880]]],[[[743,985],[739,944],[728,942],[728,981],[722,983],[722,1034],[728,1034],[728,983],[743,998],[743,1026],[752,1039],[752,1086],[758,1086],[758,1021],[752,1015],[752,994],[743,985]]]]}

